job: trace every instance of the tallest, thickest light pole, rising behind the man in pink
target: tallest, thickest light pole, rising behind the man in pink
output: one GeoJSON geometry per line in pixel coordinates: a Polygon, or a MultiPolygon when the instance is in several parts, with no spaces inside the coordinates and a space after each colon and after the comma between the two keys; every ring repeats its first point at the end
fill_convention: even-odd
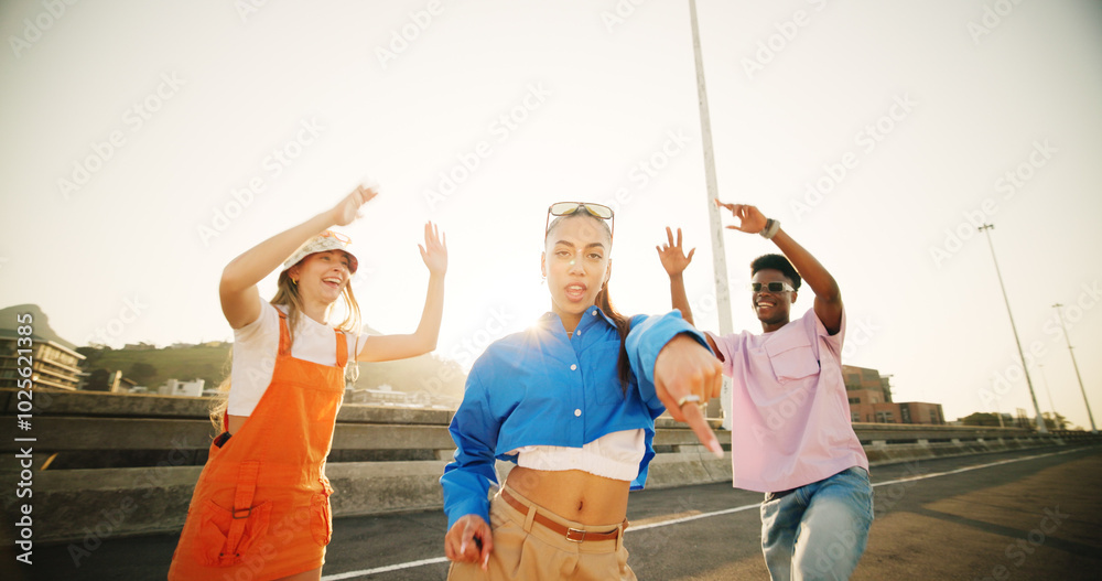
{"type": "MultiPolygon", "coordinates": [[[[707,186],[707,219],[712,233],[712,270],[715,273],[715,304],[720,310],[720,334],[730,334],[731,291],[727,288],[727,256],[723,249],[723,224],[720,222],[719,185],[715,180],[715,153],[712,150],[712,121],[707,112],[707,89],[704,86],[704,61],[700,53],[700,29],[696,25],[696,0],[689,0],[689,19],[692,23],[692,52],[696,61],[696,97],[700,103],[700,133],[704,147],[704,183],[707,186]]],[[[723,378],[723,427],[731,429],[731,379],[723,378]]],[[[709,406],[713,412],[714,407],[709,406]]]]}

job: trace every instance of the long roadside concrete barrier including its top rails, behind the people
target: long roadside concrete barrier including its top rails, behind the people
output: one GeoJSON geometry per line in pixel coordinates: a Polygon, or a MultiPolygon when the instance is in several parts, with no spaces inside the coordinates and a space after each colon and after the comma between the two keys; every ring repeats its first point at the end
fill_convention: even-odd
{"type": "MultiPolygon", "coordinates": [[[[33,448],[30,499],[3,495],[6,516],[33,505],[39,542],[96,545],[107,537],[173,532],[186,517],[214,429],[203,398],[35,392],[32,429],[17,429],[14,390],[0,390],[0,482],[23,478],[17,454],[33,448]],[[34,438],[19,442],[17,438],[34,438]],[[48,465],[47,465],[48,463],[48,465]]],[[[326,473],[335,516],[436,509],[437,478],[454,445],[452,412],[347,405],[337,417],[326,473]]],[[[717,428],[719,422],[713,422],[717,428]]],[[[872,464],[1062,445],[1090,434],[1039,437],[1025,429],[856,423],[872,464]]],[[[731,434],[717,431],[730,450],[731,434]]],[[[1096,437],[1094,437],[1094,441],[1096,437]]],[[[648,487],[731,481],[691,430],[659,419],[648,487]]],[[[504,477],[511,464],[498,463],[504,477]]]]}

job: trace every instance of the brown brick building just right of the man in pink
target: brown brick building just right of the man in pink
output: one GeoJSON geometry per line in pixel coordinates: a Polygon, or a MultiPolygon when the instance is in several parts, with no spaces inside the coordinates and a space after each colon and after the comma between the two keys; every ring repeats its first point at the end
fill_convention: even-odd
{"type": "Polygon", "coordinates": [[[941,404],[892,401],[888,377],[876,369],[843,365],[842,377],[850,400],[850,419],[854,422],[946,423],[941,404]]]}

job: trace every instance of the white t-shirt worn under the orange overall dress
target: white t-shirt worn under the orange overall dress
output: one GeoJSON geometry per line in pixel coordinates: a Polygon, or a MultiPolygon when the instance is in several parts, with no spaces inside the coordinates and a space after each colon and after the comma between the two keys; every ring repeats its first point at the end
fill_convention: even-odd
{"type": "MultiPolygon", "coordinates": [[[[229,413],[250,416],[272,383],[276,355],[279,353],[279,312],[268,301],[260,301],[260,316],[234,330],[234,367],[230,372],[229,413]]],[[[287,312],[287,308],[279,306],[287,312]]],[[[363,342],[363,338],[360,340],[363,342]]],[[[356,337],[345,333],[348,361],[356,361],[356,337]]],[[[306,316],[299,318],[291,343],[291,356],[321,365],[337,364],[337,337],[333,327],[306,316]]]]}

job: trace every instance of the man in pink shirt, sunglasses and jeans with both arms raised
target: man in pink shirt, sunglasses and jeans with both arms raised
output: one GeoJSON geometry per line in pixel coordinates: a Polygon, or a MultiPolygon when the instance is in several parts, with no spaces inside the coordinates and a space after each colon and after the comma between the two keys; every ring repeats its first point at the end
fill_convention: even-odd
{"type": "MultiPolygon", "coordinates": [[[[727,228],[758,233],[784,252],[750,263],[752,306],[763,333],[706,333],[733,380],[733,484],[766,493],[761,551],[774,580],[847,579],[868,539],[873,488],[842,380],[841,292],[779,222],[754,206],[716,203],[739,219],[727,228]],[[815,294],[814,306],[791,321],[802,280],[815,294]]],[[[692,323],[682,272],[694,249],[685,256],[681,230],[677,244],[666,232],[669,244],[658,252],[673,306],[692,323]]]]}

